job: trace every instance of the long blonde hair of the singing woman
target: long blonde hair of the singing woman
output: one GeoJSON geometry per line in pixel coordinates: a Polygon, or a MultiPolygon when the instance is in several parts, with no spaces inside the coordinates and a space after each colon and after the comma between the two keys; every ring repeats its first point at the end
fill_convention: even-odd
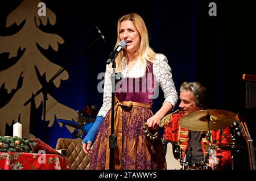
{"type": "MultiPolygon", "coordinates": [[[[118,19],[118,24],[117,24],[117,43],[115,43],[115,47],[118,45],[118,43],[121,41],[119,39],[119,30],[121,23],[125,20],[130,20],[133,22],[135,28],[137,28],[137,31],[139,33],[139,36],[141,37],[141,42],[139,44],[139,50],[137,52],[138,56],[140,57],[139,59],[141,60],[141,63],[143,65],[146,65],[147,60],[150,62],[153,62],[156,56],[156,53],[152,48],[149,46],[149,38],[148,38],[148,31],[146,24],[144,23],[144,20],[141,18],[140,15],[137,13],[131,13],[122,16],[121,18],[118,19]]],[[[126,50],[123,49],[117,56],[115,62],[117,64],[117,71],[122,70],[122,58],[126,56],[126,50]]]]}

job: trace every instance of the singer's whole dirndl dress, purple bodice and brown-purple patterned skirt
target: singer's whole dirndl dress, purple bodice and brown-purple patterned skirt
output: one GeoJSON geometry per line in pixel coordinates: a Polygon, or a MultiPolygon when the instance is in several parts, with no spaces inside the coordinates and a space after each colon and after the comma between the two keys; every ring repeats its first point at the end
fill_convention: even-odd
{"type": "Polygon", "coordinates": [[[114,149],[113,168],[109,168],[109,110],[94,141],[89,169],[166,169],[161,138],[151,140],[143,129],[147,119],[153,116],[150,95],[154,94],[156,85],[152,63],[147,63],[149,66],[143,77],[123,78],[119,89],[115,91],[114,134],[117,136],[117,148],[114,149]]]}

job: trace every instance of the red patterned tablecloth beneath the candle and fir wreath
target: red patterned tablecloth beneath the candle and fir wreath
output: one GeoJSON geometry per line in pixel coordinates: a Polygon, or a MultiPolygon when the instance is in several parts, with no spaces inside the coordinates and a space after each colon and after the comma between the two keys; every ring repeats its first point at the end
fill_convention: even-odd
{"type": "Polygon", "coordinates": [[[67,170],[68,159],[56,154],[0,153],[3,170],[67,170]]]}

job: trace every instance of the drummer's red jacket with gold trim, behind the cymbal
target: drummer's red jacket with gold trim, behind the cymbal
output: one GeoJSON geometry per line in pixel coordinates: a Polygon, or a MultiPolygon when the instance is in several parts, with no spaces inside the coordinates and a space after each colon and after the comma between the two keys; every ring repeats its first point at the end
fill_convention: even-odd
{"type": "MultiPolygon", "coordinates": [[[[185,152],[188,147],[188,141],[189,141],[189,131],[188,129],[181,128],[179,126],[179,119],[183,117],[184,115],[181,112],[174,112],[170,116],[170,121],[168,121],[164,125],[164,135],[163,139],[168,141],[174,141],[178,142],[180,145],[180,148],[183,150],[183,158],[185,155],[185,152]]],[[[206,133],[206,132],[202,132],[206,133]]],[[[231,142],[231,132],[230,128],[227,127],[225,129],[218,129],[218,131],[211,131],[212,133],[212,141],[213,144],[224,144],[227,142],[231,142]]],[[[202,138],[201,140],[202,150],[204,154],[207,154],[207,150],[205,150],[205,145],[209,145],[209,142],[206,140],[206,138],[202,138]]],[[[220,158],[220,169],[224,169],[231,165],[232,163],[232,157],[230,150],[221,150],[217,149],[217,157],[220,158]]]]}

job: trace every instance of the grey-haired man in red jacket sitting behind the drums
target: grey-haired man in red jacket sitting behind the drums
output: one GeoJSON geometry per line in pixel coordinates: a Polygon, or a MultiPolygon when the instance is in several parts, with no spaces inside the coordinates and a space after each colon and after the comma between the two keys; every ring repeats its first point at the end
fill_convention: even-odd
{"type": "Polygon", "coordinates": [[[231,142],[230,128],[218,129],[217,131],[210,131],[211,136],[208,141],[205,138],[203,131],[189,131],[188,129],[181,128],[179,119],[188,113],[205,110],[206,89],[200,82],[184,82],[180,86],[180,110],[177,110],[163,118],[164,135],[163,139],[171,142],[177,142],[182,150],[181,160],[196,164],[202,162],[207,158],[204,165],[212,169],[230,169],[232,157],[230,150],[214,149],[216,157],[205,157],[210,143],[224,144],[231,142]]]}

